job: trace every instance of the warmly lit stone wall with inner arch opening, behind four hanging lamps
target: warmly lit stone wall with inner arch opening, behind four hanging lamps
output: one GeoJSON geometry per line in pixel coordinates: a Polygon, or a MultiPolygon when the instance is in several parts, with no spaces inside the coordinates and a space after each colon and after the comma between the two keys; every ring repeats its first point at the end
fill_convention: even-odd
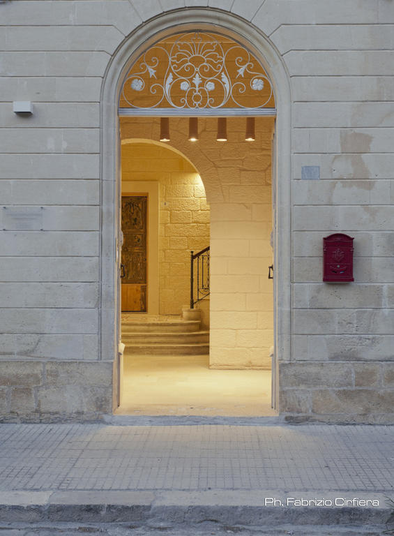
{"type": "MultiPolygon", "coordinates": [[[[199,140],[192,143],[188,119],[170,119],[170,144],[199,170],[211,209],[210,366],[271,368],[274,120],[256,118],[255,142],[245,142],[245,118],[227,119],[227,142],[216,142],[216,127],[215,118],[199,118],[199,140]]],[[[158,140],[160,120],[123,117],[121,133],[158,140]]]]}

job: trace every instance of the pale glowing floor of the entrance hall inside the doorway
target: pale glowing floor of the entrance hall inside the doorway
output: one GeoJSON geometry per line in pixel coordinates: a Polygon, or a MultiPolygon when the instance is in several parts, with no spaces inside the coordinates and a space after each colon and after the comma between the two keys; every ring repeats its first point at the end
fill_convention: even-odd
{"type": "Polygon", "coordinates": [[[271,371],[212,370],[208,355],[135,355],[126,348],[116,415],[276,415],[271,371]]]}

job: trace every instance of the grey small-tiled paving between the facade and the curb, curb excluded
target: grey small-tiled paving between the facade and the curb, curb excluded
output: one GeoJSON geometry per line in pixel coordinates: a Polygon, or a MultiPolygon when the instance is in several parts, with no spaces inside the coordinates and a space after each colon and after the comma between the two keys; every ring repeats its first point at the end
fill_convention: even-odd
{"type": "Polygon", "coordinates": [[[0,490],[394,486],[394,426],[0,425],[0,490]]]}

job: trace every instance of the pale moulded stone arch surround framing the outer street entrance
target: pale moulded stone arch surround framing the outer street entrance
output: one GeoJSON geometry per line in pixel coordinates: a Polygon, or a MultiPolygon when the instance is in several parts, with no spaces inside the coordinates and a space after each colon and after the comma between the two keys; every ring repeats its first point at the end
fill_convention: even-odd
{"type": "MultiPolygon", "coordinates": [[[[271,77],[277,107],[275,151],[275,350],[279,361],[291,359],[291,94],[289,77],[275,46],[262,32],[236,15],[209,8],[182,8],[163,13],[142,24],[123,41],[112,57],[101,93],[101,184],[103,204],[101,233],[101,304],[100,349],[101,359],[116,362],[119,341],[119,281],[117,253],[119,253],[119,118],[117,97],[123,78],[139,56],[142,45],[158,40],[168,31],[183,31],[199,27],[220,27],[222,34],[245,43],[259,58],[271,77]],[[182,21],[179,24],[179,21],[182,21]],[[280,291],[279,291],[280,289],[280,291]]],[[[202,170],[201,170],[202,171],[202,170]]],[[[208,191],[207,191],[208,194],[208,191]]],[[[116,386],[116,366],[114,367],[116,386]]],[[[116,387],[114,401],[116,400],[116,387]]]]}

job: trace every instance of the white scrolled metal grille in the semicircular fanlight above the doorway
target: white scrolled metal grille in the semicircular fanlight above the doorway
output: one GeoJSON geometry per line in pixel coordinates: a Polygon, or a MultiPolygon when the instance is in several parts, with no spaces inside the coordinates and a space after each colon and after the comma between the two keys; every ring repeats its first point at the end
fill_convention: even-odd
{"type": "Polygon", "coordinates": [[[193,31],[159,41],[126,75],[119,112],[152,108],[268,112],[275,110],[275,98],[264,68],[245,47],[219,34],[193,31]]]}

